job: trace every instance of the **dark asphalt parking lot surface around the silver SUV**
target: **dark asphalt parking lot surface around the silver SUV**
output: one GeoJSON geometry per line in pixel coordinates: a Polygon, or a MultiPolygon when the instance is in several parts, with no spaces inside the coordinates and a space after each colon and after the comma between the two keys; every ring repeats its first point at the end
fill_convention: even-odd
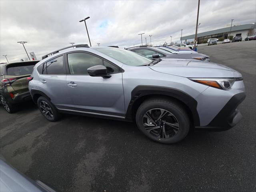
{"type": "Polygon", "coordinates": [[[58,191],[244,191],[256,189],[256,41],[198,48],[244,77],[241,122],[159,144],[135,124],[64,115],[48,122],[32,103],[0,106],[0,150],[33,180],[58,191]]]}

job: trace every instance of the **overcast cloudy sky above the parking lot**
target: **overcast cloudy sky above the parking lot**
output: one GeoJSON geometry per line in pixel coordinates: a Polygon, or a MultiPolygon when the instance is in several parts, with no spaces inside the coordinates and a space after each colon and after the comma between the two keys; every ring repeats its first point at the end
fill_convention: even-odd
{"type": "MultiPolygon", "coordinates": [[[[18,41],[27,41],[28,52],[38,59],[56,49],[89,44],[86,20],[92,46],[141,44],[139,33],[152,44],[179,42],[182,36],[196,30],[197,0],[168,1],[0,1],[0,62],[26,58],[18,41]]],[[[256,22],[255,0],[201,0],[198,32],[256,22]]]]}

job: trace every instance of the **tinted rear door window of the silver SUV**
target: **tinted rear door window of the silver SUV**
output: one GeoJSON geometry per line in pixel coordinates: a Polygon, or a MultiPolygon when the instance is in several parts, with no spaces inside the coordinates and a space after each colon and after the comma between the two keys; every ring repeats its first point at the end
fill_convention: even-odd
{"type": "Polygon", "coordinates": [[[63,65],[63,56],[56,57],[44,63],[43,74],[48,74],[48,75],[66,74],[66,70],[63,65]]]}

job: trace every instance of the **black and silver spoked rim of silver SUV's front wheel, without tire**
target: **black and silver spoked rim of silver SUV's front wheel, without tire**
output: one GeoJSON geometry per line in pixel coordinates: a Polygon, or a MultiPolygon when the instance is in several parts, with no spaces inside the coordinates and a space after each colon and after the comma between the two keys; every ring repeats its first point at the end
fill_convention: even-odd
{"type": "Polygon", "coordinates": [[[148,110],[142,119],[145,130],[159,139],[168,139],[180,129],[179,122],[171,112],[156,108],[148,110]]]}

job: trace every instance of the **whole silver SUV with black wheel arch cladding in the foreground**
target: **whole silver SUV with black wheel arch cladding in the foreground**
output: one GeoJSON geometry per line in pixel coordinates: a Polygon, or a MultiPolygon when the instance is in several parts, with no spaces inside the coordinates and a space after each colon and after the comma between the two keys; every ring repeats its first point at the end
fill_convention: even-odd
{"type": "Polygon", "coordinates": [[[60,113],[135,121],[148,138],[174,143],[191,128],[227,130],[242,118],[244,83],[231,68],[113,47],[70,48],[43,56],[30,77],[32,98],[49,121],[60,113]]]}

